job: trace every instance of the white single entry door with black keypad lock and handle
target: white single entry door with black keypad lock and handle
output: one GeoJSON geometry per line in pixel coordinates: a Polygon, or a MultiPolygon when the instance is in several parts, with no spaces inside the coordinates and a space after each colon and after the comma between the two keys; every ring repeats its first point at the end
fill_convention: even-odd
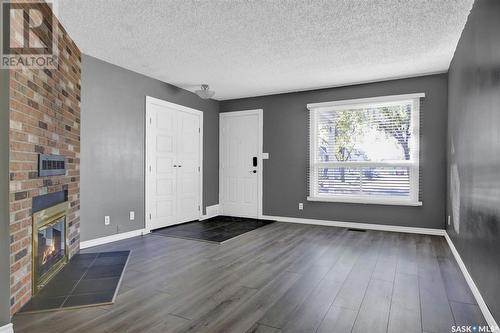
{"type": "Polygon", "coordinates": [[[224,215],[262,212],[262,110],[220,114],[220,203],[224,215]]]}

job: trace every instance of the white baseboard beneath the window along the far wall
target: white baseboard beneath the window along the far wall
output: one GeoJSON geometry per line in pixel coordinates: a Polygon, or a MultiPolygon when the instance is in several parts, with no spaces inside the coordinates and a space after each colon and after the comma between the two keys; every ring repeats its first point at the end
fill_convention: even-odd
{"type": "Polygon", "coordinates": [[[266,220],[275,220],[275,221],[279,221],[279,222],[326,225],[326,226],[340,227],[340,228],[406,232],[406,233],[410,233],[410,234],[444,236],[446,233],[446,231],[444,229],[401,227],[401,226],[396,226],[396,225],[356,223],[356,222],[340,222],[340,221],[303,219],[303,218],[297,218],[297,217],[271,216],[271,215],[263,215],[262,218],[266,219],[266,220]]]}

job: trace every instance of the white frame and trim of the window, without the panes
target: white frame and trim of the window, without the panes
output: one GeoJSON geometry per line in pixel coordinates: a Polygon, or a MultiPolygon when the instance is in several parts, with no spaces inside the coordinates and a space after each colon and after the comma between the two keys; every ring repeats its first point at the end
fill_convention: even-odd
{"type": "Polygon", "coordinates": [[[307,104],[309,110],[309,196],[308,201],[325,202],[346,202],[378,205],[398,205],[398,206],[421,206],[419,201],[419,182],[420,182],[420,98],[425,97],[424,93],[380,96],[372,98],[350,99],[325,103],[307,104]],[[316,117],[319,112],[335,111],[345,109],[361,109],[369,107],[380,107],[384,105],[394,105],[400,103],[412,103],[412,143],[411,143],[411,161],[408,162],[317,162],[318,138],[316,117]],[[363,166],[410,166],[410,196],[409,198],[385,198],[368,196],[349,196],[349,195],[320,195],[317,189],[317,169],[318,166],[325,167],[363,167],[363,166]]]}

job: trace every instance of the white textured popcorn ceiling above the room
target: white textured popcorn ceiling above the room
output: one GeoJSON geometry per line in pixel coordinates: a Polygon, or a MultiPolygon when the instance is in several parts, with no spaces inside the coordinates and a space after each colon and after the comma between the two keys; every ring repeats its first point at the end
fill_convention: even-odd
{"type": "Polygon", "coordinates": [[[444,72],[473,0],[59,0],[91,56],[215,99],[444,72]]]}

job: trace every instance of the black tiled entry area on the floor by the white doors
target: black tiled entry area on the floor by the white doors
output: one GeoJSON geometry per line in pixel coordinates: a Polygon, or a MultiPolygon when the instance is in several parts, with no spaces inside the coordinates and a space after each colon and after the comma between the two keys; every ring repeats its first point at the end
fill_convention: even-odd
{"type": "Polygon", "coordinates": [[[156,229],[153,233],[167,237],[194,239],[221,244],[273,222],[245,217],[216,216],[204,221],[193,221],[156,229]]]}

